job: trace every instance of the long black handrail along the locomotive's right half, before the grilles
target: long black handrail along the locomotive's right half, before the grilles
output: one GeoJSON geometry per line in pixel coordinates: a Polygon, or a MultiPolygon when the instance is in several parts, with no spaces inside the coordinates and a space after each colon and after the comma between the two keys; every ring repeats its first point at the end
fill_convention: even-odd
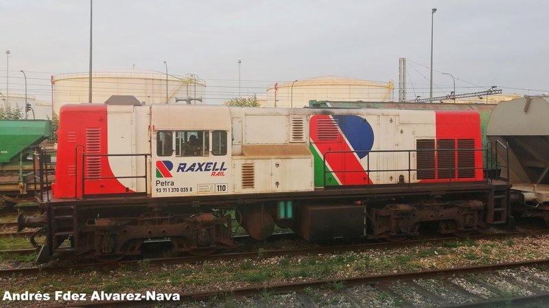
{"type": "MultiPolygon", "coordinates": [[[[454,163],[451,164],[452,167],[449,167],[449,168],[446,168],[446,167],[439,167],[438,166],[438,160],[436,160],[436,158],[434,158],[435,156],[433,156],[434,158],[434,165],[435,167],[434,168],[421,168],[421,171],[434,171],[435,174],[437,174],[437,171],[447,171],[449,172],[448,174],[448,177],[442,177],[442,178],[439,178],[438,176],[435,176],[434,178],[430,179],[430,180],[447,180],[447,182],[452,182],[453,180],[457,180],[459,179],[459,171],[463,171],[463,170],[467,170],[467,171],[476,171],[477,169],[482,169],[484,170],[484,167],[477,167],[477,166],[474,166],[474,167],[459,167],[457,166],[456,167],[456,163],[455,161],[458,159],[458,153],[460,152],[474,152],[474,154],[476,152],[483,152],[483,153],[487,153],[487,150],[486,149],[429,149],[429,150],[353,150],[353,151],[328,151],[328,152],[325,152],[323,154],[323,186],[326,187],[326,178],[327,178],[327,174],[336,174],[336,173],[352,173],[352,172],[366,172],[366,174],[368,174],[368,176],[371,174],[371,173],[383,173],[383,172],[399,172],[399,171],[405,171],[408,173],[408,184],[411,183],[411,179],[412,179],[412,172],[413,171],[419,171],[420,169],[417,169],[417,167],[415,169],[412,169],[412,153],[418,153],[418,152],[433,152],[433,154],[437,153],[437,152],[454,152],[456,154],[454,154],[454,163]],[[327,164],[327,161],[326,161],[326,156],[328,155],[331,155],[331,154],[348,154],[348,153],[353,153],[353,154],[360,154],[360,153],[366,153],[366,169],[360,169],[360,170],[329,170],[327,169],[327,167],[329,166],[327,164]],[[407,153],[408,154],[408,166],[407,168],[399,168],[399,169],[371,169],[370,167],[370,157],[371,157],[371,154],[373,153],[395,153],[395,154],[399,154],[399,153],[407,153]],[[457,171],[457,172],[456,172],[457,171]]],[[[362,163],[361,163],[362,165],[362,163]]],[[[333,167],[333,166],[331,166],[333,167]]],[[[476,176],[474,176],[476,177],[476,176]]],[[[370,176],[369,176],[369,179],[370,176]]],[[[487,180],[487,178],[485,178],[484,180],[487,180]]],[[[369,180],[367,182],[366,185],[370,185],[370,182],[371,180],[369,180]]],[[[399,181],[400,182],[400,181],[399,181]]]]}

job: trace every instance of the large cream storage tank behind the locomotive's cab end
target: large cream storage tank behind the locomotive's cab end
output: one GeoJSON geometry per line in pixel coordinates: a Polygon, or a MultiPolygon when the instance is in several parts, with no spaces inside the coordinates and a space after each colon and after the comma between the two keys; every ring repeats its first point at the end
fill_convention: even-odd
{"type": "MultiPolygon", "coordinates": [[[[89,102],[89,74],[56,75],[54,83],[54,111],[65,104],[89,102]]],[[[133,95],[145,104],[175,104],[176,97],[204,98],[206,82],[197,75],[180,78],[156,71],[95,71],[92,72],[92,102],[103,103],[111,95],[133,95]],[[167,91],[166,91],[167,90],[167,91]]],[[[179,104],[185,104],[180,102],[179,104]]]]}

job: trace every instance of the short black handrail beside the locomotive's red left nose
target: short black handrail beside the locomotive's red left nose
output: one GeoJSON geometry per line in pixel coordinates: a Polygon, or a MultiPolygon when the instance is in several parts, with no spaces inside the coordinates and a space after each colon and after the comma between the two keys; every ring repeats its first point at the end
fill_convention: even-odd
{"type": "MultiPolygon", "coordinates": [[[[95,194],[89,194],[89,195],[86,195],[86,181],[87,180],[107,180],[107,179],[110,179],[110,180],[113,180],[113,179],[123,179],[123,178],[135,178],[135,179],[139,179],[139,178],[143,178],[143,180],[145,180],[145,183],[144,183],[144,187],[145,187],[145,191],[135,191],[135,192],[126,192],[126,193],[115,193],[115,195],[135,195],[135,193],[141,193],[141,194],[144,194],[145,196],[149,194],[149,190],[148,190],[148,177],[149,177],[149,172],[148,172],[148,167],[147,167],[147,157],[150,156],[150,154],[147,154],[147,153],[143,153],[143,154],[86,154],[86,153],[82,153],[82,178],[81,178],[81,182],[82,182],[82,198],[86,198],[86,197],[89,197],[89,196],[93,196],[95,194]],[[139,176],[139,175],[136,175],[136,176],[86,176],[86,158],[89,158],[89,157],[115,157],[115,156],[118,156],[118,157],[139,157],[139,156],[143,156],[143,161],[144,161],[144,170],[145,170],[145,174],[139,176]]],[[[78,156],[77,156],[77,160],[78,160],[78,156]]],[[[76,165],[78,166],[78,164],[76,165]]],[[[137,173],[137,172],[136,172],[137,173]]],[[[78,167],[77,169],[75,170],[75,176],[78,176],[78,167]]],[[[75,185],[76,187],[78,187],[78,180],[75,180],[75,185]]],[[[136,185],[137,186],[137,185],[136,185]]],[[[75,191],[75,196],[78,196],[78,188],[76,188],[76,191],[75,191]]]]}

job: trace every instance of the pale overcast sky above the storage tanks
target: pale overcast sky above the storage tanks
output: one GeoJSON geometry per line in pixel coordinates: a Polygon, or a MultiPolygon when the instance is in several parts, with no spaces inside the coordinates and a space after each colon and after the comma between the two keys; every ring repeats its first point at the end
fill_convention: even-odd
{"type": "MultiPolygon", "coordinates": [[[[549,1],[95,0],[93,70],[198,74],[207,96],[265,93],[274,82],[338,75],[395,81],[408,60],[408,98],[428,97],[431,9],[434,96],[452,91],[549,93],[549,1]]],[[[49,102],[49,76],[89,69],[90,1],[0,0],[10,93],[49,102]]],[[[0,91],[6,58],[0,60],[0,91]]],[[[1,59],[1,58],[0,58],[1,59]]],[[[396,94],[395,94],[396,95],[396,94]]]]}

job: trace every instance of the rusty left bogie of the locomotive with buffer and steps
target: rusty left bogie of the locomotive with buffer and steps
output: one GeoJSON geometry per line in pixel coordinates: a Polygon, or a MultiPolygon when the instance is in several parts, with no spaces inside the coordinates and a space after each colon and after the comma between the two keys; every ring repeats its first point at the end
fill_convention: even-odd
{"type": "Polygon", "coordinates": [[[165,239],[174,252],[209,254],[233,245],[231,216],[198,208],[172,206],[51,206],[45,218],[27,217],[21,226],[46,224],[47,242],[38,259],[47,261],[54,252],[76,257],[117,261],[140,254],[143,241],[165,239]],[[101,208],[100,211],[98,209],[101,208]],[[101,213],[95,215],[93,213],[101,213]],[[136,216],[132,216],[132,214],[136,216]]]}

